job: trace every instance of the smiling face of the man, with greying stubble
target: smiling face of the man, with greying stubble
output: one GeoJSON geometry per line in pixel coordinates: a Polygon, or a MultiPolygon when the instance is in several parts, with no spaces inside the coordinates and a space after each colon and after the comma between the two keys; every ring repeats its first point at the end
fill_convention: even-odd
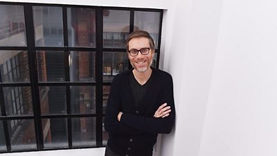
{"type": "MultiPolygon", "coordinates": [[[[148,38],[139,37],[129,40],[129,51],[132,49],[140,50],[143,48],[150,48],[148,38]]],[[[148,55],[142,55],[141,52],[139,52],[138,55],[131,56],[128,53],[128,58],[130,63],[132,64],[132,67],[134,67],[134,69],[139,72],[145,72],[150,69],[153,57],[154,51],[152,49],[150,49],[148,55]]]]}

